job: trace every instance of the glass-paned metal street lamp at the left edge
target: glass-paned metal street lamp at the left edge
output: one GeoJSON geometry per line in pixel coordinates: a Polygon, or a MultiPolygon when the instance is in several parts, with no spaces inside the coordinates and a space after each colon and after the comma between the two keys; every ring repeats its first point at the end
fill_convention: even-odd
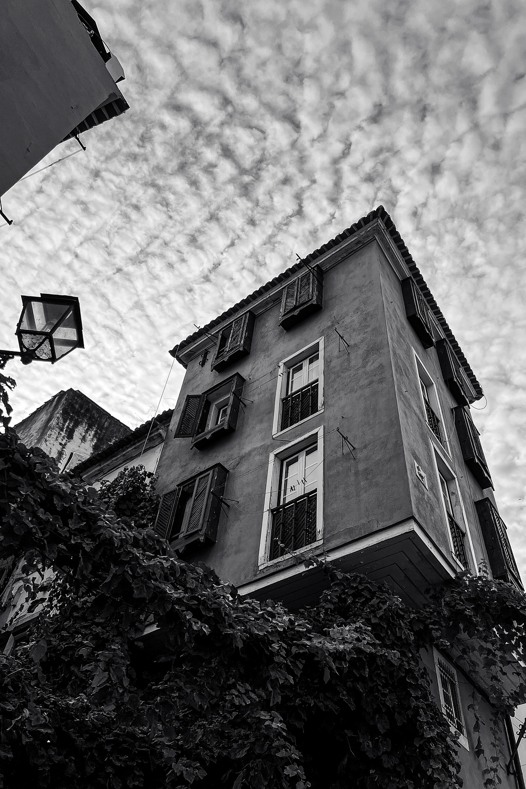
{"type": "Polygon", "coordinates": [[[0,369],[19,356],[23,365],[55,361],[75,348],[84,348],[79,300],[74,296],[22,296],[15,334],[20,350],[0,350],[0,369]]]}

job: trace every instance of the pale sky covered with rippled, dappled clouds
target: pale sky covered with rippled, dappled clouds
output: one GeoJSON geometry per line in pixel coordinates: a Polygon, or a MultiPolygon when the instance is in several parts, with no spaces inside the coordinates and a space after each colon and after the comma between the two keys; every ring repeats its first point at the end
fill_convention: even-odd
{"type": "Polygon", "coordinates": [[[524,573],[524,3],[84,5],[131,109],[3,198],[2,346],[40,291],[80,297],[86,342],[11,363],[14,421],[73,387],[136,427],[194,324],[381,203],[487,394],[476,423],[524,573]]]}

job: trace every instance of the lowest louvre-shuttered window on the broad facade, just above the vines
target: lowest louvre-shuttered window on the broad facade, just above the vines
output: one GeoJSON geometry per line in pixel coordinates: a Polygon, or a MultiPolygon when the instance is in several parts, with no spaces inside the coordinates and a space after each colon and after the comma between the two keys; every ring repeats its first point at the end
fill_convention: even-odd
{"type": "Polygon", "coordinates": [[[154,527],[159,537],[177,550],[197,540],[215,542],[227,474],[213,466],[162,495],[154,527]]]}

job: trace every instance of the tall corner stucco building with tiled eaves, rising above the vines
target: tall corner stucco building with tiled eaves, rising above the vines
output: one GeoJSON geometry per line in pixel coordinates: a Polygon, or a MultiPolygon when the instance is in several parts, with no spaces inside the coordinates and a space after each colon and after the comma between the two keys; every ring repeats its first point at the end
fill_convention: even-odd
{"type": "MultiPolygon", "coordinates": [[[[323,589],[311,555],[412,605],[481,563],[522,588],[470,413],[482,388],[382,207],[171,353],[186,375],[155,528],[185,559],[291,608],[323,589]]],[[[423,660],[479,789],[472,683],[452,653],[423,660]]],[[[524,787],[517,760],[503,781],[524,787]]]]}

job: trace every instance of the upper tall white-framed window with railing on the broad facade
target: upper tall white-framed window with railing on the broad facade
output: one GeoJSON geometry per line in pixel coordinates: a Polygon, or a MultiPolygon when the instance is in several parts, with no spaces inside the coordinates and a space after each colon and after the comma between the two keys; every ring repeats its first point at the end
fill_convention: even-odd
{"type": "Polygon", "coordinates": [[[275,435],[323,408],[323,338],[279,365],[274,407],[275,435]]]}

